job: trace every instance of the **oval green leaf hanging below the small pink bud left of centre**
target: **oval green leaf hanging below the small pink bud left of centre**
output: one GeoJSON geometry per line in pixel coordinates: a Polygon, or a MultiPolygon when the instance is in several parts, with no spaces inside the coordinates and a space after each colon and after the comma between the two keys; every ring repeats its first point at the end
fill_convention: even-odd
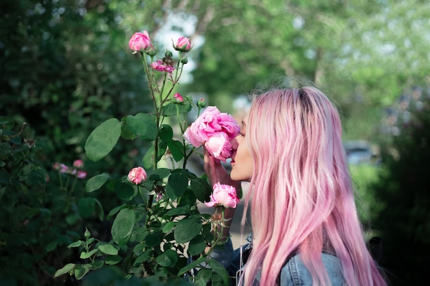
{"type": "Polygon", "coordinates": [[[123,208],[113,221],[112,237],[119,245],[124,246],[130,239],[135,226],[135,211],[131,208],[123,208]]]}

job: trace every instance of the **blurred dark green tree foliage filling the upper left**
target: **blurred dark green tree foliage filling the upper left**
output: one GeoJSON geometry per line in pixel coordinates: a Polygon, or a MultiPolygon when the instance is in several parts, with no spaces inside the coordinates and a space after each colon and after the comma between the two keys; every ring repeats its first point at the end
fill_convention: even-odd
{"type": "MultiPolygon", "coordinates": [[[[146,110],[139,61],[104,1],[2,5],[0,109],[51,140],[47,165],[83,157],[87,136],[104,119],[146,110]]],[[[120,172],[121,158],[97,167],[120,172]]]]}

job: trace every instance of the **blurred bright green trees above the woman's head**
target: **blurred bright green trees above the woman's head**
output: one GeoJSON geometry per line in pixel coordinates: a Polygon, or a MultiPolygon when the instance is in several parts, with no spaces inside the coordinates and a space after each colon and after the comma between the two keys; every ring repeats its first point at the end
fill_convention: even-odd
{"type": "Polygon", "coordinates": [[[188,36],[203,35],[204,45],[188,90],[229,112],[231,98],[268,78],[301,75],[335,100],[346,139],[372,140],[382,108],[430,73],[422,36],[430,29],[428,1],[137,2],[145,8],[139,18],[157,23],[197,16],[188,36]]]}

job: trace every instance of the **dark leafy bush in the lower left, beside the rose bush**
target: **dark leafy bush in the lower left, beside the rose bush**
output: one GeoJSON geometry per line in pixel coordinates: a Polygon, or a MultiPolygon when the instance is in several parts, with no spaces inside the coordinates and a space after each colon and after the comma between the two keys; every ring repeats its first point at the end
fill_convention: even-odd
{"type": "Polygon", "coordinates": [[[45,169],[43,141],[28,137],[27,129],[0,118],[0,278],[48,285],[57,263],[71,259],[66,246],[84,220],[91,225],[104,211],[85,194],[81,169],[45,169]]]}

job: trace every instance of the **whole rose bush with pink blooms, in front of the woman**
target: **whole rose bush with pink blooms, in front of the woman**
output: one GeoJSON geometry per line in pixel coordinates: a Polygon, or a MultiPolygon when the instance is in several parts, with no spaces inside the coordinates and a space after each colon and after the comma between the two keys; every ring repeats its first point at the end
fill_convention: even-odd
{"type": "MultiPolygon", "coordinates": [[[[83,240],[69,245],[80,251],[82,263],[69,263],[55,276],[85,276],[85,281],[105,281],[104,285],[124,280],[127,285],[142,285],[142,280],[144,285],[228,285],[227,271],[210,257],[214,246],[224,243],[211,228],[222,219],[201,214],[198,207],[198,202],[210,201],[212,187],[206,176],[187,169],[187,163],[202,143],[220,160],[228,158],[229,139],[239,132],[238,124],[214,107],[199,116],[204,99],[192,102],[190,96],[174,92],[188,62],[185,52],[192,49],[189,38],[173,44],[177,56],[167,50],[161,59],[146,31],[133,34],[129,47],[142,58],[154,110],[104,121],[89,135],[85,151],[90,160],[102,160],[120,138],[146,141],[150,147],[142,152],[142,167],[133,167],[128,175],[113,178],[102,173],[87,180],[87,192],[113,191],[123,202],[107,215],[113,219],[112,240],[99,241],[88,229],[83,240]],[[187,128],[185,115],[192,108],[198,119],[187,128]]],[[[214,198],[221,201],[218,194],[214,198]]]]}

